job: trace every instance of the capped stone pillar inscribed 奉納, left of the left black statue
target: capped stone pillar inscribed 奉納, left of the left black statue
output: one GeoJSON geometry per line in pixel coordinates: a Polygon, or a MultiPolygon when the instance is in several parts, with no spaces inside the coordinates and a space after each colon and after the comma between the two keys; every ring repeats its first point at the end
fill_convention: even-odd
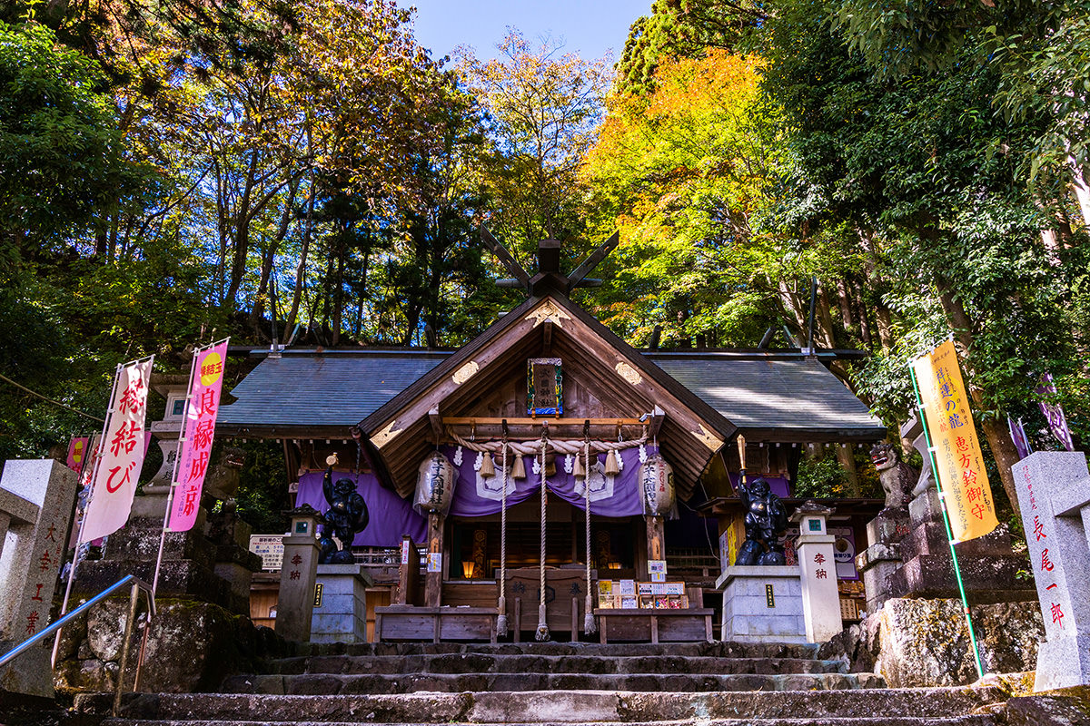
{"type": "Polygon", "coordinates": [[[317,526],[324,518],[308,504],[287,513],[291,533],[283,538],[280,596],[276,605],[276,632],[284,640],[311,639],[314,585],[318,570],[317,526]]]}

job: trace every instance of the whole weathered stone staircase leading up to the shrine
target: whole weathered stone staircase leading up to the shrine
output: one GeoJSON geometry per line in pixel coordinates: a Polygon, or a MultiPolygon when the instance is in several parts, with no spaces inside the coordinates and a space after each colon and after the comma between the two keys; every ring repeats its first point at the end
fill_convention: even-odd
{"type": "Polygon", "coordinates": [[[129,694],[118,718],[89,694],[75,711],[102,726],[993,726],[1006,700],[997,687],[883,686],[811,645],[312,645],[219,693],[129,694]]]}

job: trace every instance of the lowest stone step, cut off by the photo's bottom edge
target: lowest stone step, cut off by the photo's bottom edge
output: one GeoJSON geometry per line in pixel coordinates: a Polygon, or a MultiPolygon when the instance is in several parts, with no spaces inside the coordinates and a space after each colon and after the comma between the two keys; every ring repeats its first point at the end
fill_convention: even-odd
{"type": "MultiPolygon", "coordinates": [[[[272,721],[217,721],[218,726],[277,726],[282,722],[272,721]]],[[[644,722],[533,722],[509,724],[508,726],[692,726],[691,719],[686,721],[644,721],[644,722]]],[[[133,718],[108,718],[102,726],[207,726],[207,721],[146,721],[133,718]]],[[[293,726],[358,726],[358,722],[296,721],[293,726]]],[[[440,726],[438,724],[388,724],[387,726],[440,726]]],[[[476,723],[452,722],[441,726],[480,726],[476,723]]],[[[916,718],[907,717],[840,717],[827,716],[820,718],[714,718],[701,719],[700,726],[996,726],[996,721],[990,715],[953,716],[949,718],[916,718]]]]}

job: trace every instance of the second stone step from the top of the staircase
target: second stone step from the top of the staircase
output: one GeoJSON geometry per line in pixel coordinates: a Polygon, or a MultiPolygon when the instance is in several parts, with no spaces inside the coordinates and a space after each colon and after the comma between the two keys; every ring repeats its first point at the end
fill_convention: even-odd
{"type": "Polygon", "coordinates": [[[298,674],[795,674],[845,673],[843,661],[794,657],[717,657],[710,655],[537,655],[444,653],[432,655],[311,655],[281,659],[268,673],[298,674]]]}

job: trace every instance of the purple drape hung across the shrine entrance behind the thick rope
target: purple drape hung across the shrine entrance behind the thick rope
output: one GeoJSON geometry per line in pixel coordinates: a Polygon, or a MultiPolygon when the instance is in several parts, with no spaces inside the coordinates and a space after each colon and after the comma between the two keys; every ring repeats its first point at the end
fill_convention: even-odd
{"type": "MultiPolygon", "coordinates": [[[[655,446],[649,445],[647,455],[652,455],[656,452],[655,446]]],[[[444,447],[444,454],[447,458],[453,462],[455,458],[455,447],[446,446],[444,447]]],[[[631,515],[643,514],[643,508],[640,502],[640,488],[639,488],[639,470],[640,470],[640,450],[639,447],[626,448],[620,452],[621,457],[621,472],[613,477],[613,491],[608,492],[607,489],[595,489],[595,484],[600,487],[605,487],[606,482],[592,477],[591,487],[591,514],[600,515],[603,517],[628,517],[631,515]]],[[[564,470],[564,455],[556,455],[556,473],[548,477],[545,481],[546,487],[548,487],[549,492],[556,494],[565,502],[568,502],[574,507],[580,509],[583,508],[583,494],[582,494],[582,482],[580,482],[580,491],[576,490],[576,477],[574,475],[567,473],[564,470]]],[[[591,456],[591,466],[594,466],[594,456],[591,456]]],[[[496,462],[496,470],[499,471],[500,457],[496,456],[494,458],[496,462]]],[[[606,460],[605,454],[598,454],[597,460],[604,465],[606,460]]],[[[496,514],[500,510],[501,502],[499,501],[499,488],[501,487],[501,479],[499,477],[493,477],[483,482],[483,487],[493,487],[494,493],[491,496],[481,496],[477,489],[477,472],[473,469],[473,464],[476,462],[476,452],[471,452],[468,448],[462,450],[462,465],[456,467],[458,469],[458,483],[455,485],[453,503],[450,506],[450,514],[462,516],[462,517],[481,517],[489,514],[496,514]]],[[[513,462],[513,456],[508,454],[507,466],[510,468],[513,462]]],[[[534,495],[541,484],[541,475],[535,475],[533,472],[533,456],[523,456],[522,462],[526,468],[525,479],[512,479],[514,484],[514,491],[508,490],[507,493],[507,506],[508,508],[524,502],[534,495]]]]}

